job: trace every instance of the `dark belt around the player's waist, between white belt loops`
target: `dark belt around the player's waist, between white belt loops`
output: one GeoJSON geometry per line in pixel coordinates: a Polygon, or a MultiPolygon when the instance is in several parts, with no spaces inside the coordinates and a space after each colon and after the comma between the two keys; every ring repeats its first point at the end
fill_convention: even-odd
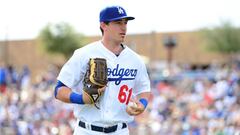
{"type": "MultiPolygon", "coordinates": [[[[86,128],[85,122],[79,121],[78,125],[82,128],[86,128]]],[[[111,126],[111,127],[99,127],[99,126],[95,126],[95,125],[90,125],[90,126],[91,126],[91,130],[93,130],[93,131],[104,132],[104,133],[112,133],[112,132],[115,132],[117,130],[118,125],[114,125],[114,126],[111,126]]],[[[127,127],[127,124],[123,123],[122,124],[122,129],[124,129],[126,127],[127,127]]]]}

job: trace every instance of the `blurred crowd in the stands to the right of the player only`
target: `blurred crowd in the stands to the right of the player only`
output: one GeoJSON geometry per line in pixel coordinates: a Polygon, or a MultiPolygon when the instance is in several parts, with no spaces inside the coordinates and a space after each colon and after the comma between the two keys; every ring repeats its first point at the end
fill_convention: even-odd
{"type": "Polygon", "coordinates": [[[138,135],[239,135],[240,66],[181,69],[153,84],[138,135]]]}

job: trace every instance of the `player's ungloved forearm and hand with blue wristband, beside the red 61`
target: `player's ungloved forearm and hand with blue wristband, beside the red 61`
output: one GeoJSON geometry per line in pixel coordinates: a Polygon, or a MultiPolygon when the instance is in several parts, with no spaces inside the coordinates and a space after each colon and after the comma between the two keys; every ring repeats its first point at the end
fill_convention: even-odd
{"type": "Polygon", "coordinates": [[[132,102],[136,103],[136,106],[128,106],[126,111],[129,115],[139,115],[147,107],[148,100],[150,97],[150,92],[144,92],[137,95],[137,99],[133,99],[132,102]]]}

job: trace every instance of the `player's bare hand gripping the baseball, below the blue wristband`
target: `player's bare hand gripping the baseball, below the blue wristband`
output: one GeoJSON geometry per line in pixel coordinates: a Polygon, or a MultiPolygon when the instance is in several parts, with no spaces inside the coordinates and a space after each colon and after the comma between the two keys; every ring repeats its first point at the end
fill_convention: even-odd
{"type": "Polygon", "coordinates": [[[143,104],[141,102],[139,102],[138,100],[131,100],[130,102],[133,102],[133,104],[135,103],[135,105],[128,105],[127,106],[126,112],[129,115],[131,115],[131,116],[139,115],[144,111],[143,104]]]}

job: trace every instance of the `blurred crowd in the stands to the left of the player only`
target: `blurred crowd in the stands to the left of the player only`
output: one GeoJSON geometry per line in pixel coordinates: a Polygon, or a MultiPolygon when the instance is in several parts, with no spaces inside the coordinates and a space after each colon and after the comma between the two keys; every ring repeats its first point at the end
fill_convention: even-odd
{"type": "Polygon", "coordinates": [[[58,70],[49,67],[31,83],[27,67],[14,70],[14,81],[9,69],[0,66],[0,135],[71,135],[72,107],[53,96],[58,70]]]}

